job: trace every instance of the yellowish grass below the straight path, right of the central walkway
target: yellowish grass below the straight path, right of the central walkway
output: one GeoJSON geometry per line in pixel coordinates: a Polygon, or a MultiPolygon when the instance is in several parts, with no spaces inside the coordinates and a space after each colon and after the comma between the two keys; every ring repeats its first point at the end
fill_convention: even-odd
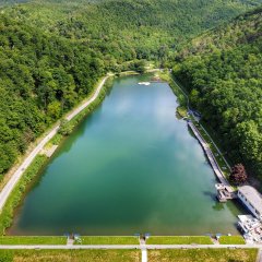
{"type": "Polygon", "coordinates": [[[254,262],[258,249],[148,250],[150,262],[254,262]]]}

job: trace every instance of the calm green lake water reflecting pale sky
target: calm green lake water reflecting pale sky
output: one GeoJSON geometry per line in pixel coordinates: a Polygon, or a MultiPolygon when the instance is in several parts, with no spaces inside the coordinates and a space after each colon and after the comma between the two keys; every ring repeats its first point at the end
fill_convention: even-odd
{"type": "Polygon", "coordinates": [[[216,178],[166,83],[115,80],[56,152],[17,209],[16,235],[237,234],[237,203],[216,178]]]}

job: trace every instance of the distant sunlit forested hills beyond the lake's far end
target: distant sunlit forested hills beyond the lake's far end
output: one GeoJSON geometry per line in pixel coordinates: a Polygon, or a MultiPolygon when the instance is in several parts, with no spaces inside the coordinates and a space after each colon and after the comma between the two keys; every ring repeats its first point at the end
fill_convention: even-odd
{"type": "Polygon", "coordinates": [[[258,2],[262,0],[34,0],[5,12],[121,62],[134,57],[167,60],[188,38],[258,2]]]}

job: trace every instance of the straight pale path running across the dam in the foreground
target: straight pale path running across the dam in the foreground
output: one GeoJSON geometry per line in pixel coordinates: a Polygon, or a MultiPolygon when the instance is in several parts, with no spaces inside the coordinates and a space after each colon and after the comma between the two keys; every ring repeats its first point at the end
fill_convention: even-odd
{"type": "Polygon", "coordinates": [[[261,249],[262,245],[0,245],[0,249],[261,249]]]}

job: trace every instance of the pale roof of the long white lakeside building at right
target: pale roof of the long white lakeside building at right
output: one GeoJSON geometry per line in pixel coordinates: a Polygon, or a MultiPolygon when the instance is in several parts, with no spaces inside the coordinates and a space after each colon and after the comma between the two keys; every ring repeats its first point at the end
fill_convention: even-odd
{"type": "Polygon", "coordinates": [[[261,194],[250,186],[242,186],[239,189],[239,192],[242,193],[246,199],[249,201],[253,207],[262,214],[262,196],[261,194]]]}

